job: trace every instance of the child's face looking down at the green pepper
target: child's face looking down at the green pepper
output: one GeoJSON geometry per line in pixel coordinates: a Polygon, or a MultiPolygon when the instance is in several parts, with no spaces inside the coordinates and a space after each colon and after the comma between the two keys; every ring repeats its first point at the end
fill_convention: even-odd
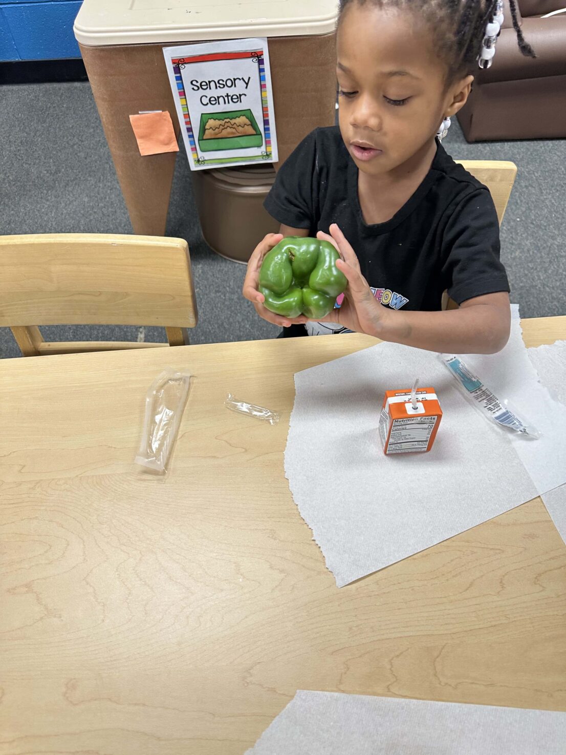
{"type": "Polygon", "coordinates": [[[360,171],[382,175],[431,145],[452,94],[412,14],[353,2],[337,35],[340,132],[360,171]]]}

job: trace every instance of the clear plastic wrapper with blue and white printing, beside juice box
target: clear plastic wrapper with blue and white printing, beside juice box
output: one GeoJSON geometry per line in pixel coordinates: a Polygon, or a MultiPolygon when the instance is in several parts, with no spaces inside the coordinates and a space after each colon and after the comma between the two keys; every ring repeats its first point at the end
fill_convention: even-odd
{"type": "Polygon", "coordinates": [[[485,386],[480,378],[466,367],[460,356],[440,354],[441,362],[457,382],[460,393],[466,396],[481,414],[491,419],[500,427],[520,433],[522,436],[536,440],[540,433],[531,422],[527,421],[508,399],[498,398],[485,386]]]}

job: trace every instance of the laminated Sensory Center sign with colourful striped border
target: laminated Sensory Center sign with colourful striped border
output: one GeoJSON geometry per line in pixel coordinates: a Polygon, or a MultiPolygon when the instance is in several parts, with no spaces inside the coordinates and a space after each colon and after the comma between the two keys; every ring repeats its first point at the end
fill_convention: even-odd
{"type": "Polygon", "coordinates": [[[193,171],[277,162],[267,39],[164,48],[193,171]]]}

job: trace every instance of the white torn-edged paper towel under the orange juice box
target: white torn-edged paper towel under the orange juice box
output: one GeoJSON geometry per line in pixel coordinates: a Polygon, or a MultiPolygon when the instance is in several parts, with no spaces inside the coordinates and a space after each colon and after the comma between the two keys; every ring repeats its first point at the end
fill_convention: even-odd
{"type": "Polygon", "coordinates": [[[502,353],[466,364],[526,407],[544,438],[515,439],[485,419],[422,350],[379,344],[295,375],[285,473],[339,587],[566,482],[566,408],[538,382],[518,321],[502,353]],[[435,445],[386,457],[377,435],[383,395],[417,376],[444,412],[435,445]]]}

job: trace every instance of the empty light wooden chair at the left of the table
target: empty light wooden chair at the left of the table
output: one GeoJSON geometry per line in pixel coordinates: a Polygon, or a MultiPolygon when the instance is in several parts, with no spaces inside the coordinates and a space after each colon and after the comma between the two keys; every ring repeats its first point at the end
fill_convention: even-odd
{"type": "Polygon", "coordinates": [[[0,326],[23,356],[181,346],[197,323],[183,239],[97,233],[0,236],[0,326]],[[168,344],[48,344],[38,325],[158,325],[168,344]]]}

